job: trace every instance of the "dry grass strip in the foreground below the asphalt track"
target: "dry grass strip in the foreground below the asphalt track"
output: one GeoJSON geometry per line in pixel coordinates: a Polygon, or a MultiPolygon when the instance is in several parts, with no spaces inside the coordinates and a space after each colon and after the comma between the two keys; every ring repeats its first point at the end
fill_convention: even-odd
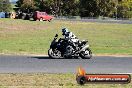
{"type": "Polygon", "coordinates": [[[0,88],[131,88],[129,84],[85,84],[76,82],[74,74],[0,74],[0,88]]]}

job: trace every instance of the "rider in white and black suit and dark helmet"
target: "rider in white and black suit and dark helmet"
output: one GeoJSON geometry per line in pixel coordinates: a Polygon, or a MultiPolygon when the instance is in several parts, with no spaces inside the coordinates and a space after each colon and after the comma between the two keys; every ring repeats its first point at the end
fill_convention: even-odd
{"type": "Polygon", "coordinates": [[[62,29],[62,35],[66,40],[71,40],[73,47],[76,48],[76,43],[79,41],[79,39],[70,31],[68,31],[67,28],[62,29]]]}

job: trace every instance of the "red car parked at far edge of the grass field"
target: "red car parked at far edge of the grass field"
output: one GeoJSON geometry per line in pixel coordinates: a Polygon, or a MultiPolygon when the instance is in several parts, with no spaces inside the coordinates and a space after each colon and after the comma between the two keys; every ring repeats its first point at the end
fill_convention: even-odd
{"type": "Polygon", "coordinates": [[[46,12],[39,12],[39,11],[36,11],[33,16],[33,19],[35,21],[39,20],[39,21],[49,21],[50,22],[53,18],[54,18],[53,16],[48,15],[46,12]]]}

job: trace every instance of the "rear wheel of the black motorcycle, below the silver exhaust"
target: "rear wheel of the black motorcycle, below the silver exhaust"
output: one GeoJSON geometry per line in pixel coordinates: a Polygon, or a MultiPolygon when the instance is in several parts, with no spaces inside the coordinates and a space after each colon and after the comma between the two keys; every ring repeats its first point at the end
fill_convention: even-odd
{"type": "Polygon", "coordinates": [[[85,51],[80,52],[80,57],[82,59],[91,59],[92,58],[92,51],[87,48],[85,51]]]}

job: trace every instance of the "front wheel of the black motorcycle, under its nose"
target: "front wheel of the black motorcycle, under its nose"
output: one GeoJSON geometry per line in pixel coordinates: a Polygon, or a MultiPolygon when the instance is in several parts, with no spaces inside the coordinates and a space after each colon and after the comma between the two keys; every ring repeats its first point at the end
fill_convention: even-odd
{"type": "Polygon", "coordinates": [[[50,58],[53,58],[53,59],[58,59],[58,58],[61,58],[61,52],[57,49],[49,49],[48,50],[48,55],[50,58]]]}

